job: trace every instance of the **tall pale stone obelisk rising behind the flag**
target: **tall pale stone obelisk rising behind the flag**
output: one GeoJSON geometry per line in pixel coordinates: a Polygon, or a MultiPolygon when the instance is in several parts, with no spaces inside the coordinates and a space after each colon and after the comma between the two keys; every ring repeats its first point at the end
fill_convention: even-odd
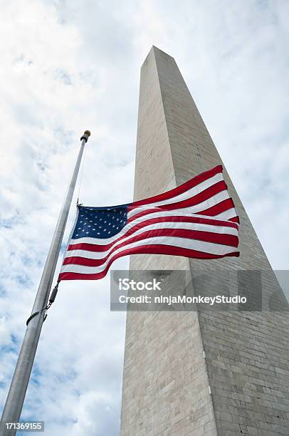
{"type": "MultiPolygon", "coordinates": [[[[174,58],[153,46],[141,69],[135,200],[220,163],[174,58]]],[[[193,279],[205,270],[220,286],[226,270],[228,288],[230,271],[248,271],[248,281],[266,271],[264,310],[128,312],[121,436],[289,434],[285,297],[226,169],[224,177],[241,221],[239,258],[135,255],[130,268],[184,269],[193,279]]]]}

